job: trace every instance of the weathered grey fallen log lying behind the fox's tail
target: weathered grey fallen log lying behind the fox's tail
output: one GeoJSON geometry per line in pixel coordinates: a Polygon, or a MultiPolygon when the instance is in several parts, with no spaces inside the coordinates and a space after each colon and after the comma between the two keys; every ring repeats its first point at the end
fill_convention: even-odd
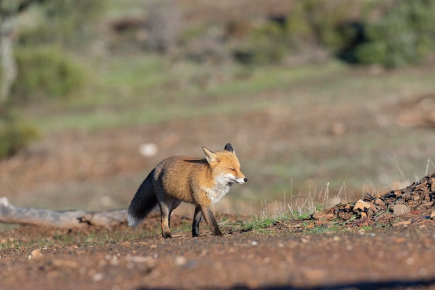
{"type": "Polygon", "coordinates": [[[20,225],[49,225],[56,228],[80,228],[86,225],[110,227],[126,223],[126,210],[85,212],[83,210],[47,210],[35,207],[16,207],[8,198],[0,198],[0,223],[20,225]]]}

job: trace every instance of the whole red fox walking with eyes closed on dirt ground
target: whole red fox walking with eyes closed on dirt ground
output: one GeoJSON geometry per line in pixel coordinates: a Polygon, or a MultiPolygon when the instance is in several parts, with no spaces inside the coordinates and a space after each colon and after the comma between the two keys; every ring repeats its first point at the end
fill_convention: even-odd
{"type": "Polygon", "coordinates": [[[216,236],[222,236],[211,205],[217,203],[234,183],[245,183],[233,146],[212,152],[202,147],[206,159],[186,156],[167,157],[153,169],[136,192],[128,211],[129,225],[135,227],[151,210],[160,205],[163,237],[170,238],[170,216],[181,201],[195,204],[192,237],[199,235],[199,222],[204,219],[216,236]]]}

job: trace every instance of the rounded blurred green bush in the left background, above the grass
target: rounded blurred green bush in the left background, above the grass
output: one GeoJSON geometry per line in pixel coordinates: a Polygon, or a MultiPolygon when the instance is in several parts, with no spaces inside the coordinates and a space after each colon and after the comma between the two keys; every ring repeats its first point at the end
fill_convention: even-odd
{"type": "Polygon", "coordinates": [[[85,83],[81,62],[56,46],[17,47],[18,76],[13,86],[17,99],[68,96],[85,83]]]}

